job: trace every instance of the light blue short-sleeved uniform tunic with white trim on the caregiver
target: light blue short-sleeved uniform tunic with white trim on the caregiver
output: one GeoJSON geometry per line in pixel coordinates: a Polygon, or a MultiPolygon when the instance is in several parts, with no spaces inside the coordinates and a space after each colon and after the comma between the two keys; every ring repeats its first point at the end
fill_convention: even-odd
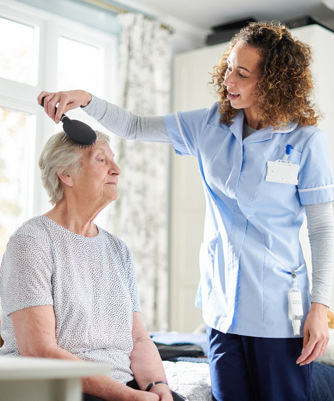
{"type": "Polygon", "coordinates": [[[209,109],[163,117],[177,154],[198,159],[206,197],[201,280],[196,306],[207,325],[224,333],[293,337],[287,293],[297,271],[304,317],[310,308],[309,282],[299,243],[303,205],[334,200],[325,133],[291,123],[264,129],[242,140],[244,113],[229,125],[217,103],[209,109]],[[267,162],[300,166],[298,184],[265,181],[267,162]]]}

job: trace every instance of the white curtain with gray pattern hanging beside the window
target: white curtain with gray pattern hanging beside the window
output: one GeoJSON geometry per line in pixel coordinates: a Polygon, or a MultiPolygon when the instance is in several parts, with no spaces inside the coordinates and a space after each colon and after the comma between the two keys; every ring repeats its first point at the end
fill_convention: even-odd
{"type": "MultiPolygon", "coordinates": [[[[118,105],[140,115],[170,111],[170,33],[141,14],[122,27],[118,105]]],[[[112,138],[122,169],[109,224],[130,247],[148,330],[168,330],[169,145],[112,138]]]]}

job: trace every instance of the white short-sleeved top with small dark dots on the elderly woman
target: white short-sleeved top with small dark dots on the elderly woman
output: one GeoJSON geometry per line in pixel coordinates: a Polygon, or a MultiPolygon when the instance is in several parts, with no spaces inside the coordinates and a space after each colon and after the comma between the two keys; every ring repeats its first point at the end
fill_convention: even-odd
{"type": "Polygon", "coordinates": [[[123,241],[98,231],[84,237],[38,216],[12,235],[0,268],[0,355],[20,355],[10,313],[53,305],[59,347],[108,363],[119,382],[133,379],[132,312],[140,312],[133,262],[123,241]]]}

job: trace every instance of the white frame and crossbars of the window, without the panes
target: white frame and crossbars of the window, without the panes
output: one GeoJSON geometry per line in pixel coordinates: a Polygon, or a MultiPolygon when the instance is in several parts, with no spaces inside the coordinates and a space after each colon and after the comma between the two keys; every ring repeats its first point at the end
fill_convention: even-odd
{"type": "MultiPolygon", "coordinates": [[[[42,187],[38,158],[44,143],[55,131],[54,122],[37,104],[42,90],[57,90],[58,38],[65,37],[99,48],[102,62],[99,64],[100,83],[98,94],[104,99],[116,101],[118,35],[107,34],[76,21],[25,5],[16,1],[0,0],[0,17],[36,27],[39,30],[38,76],[36,86],[0,77],[0,107],[36,115],[36,136],[33,187],[29,188],[28,215],[45,213],[52,206],[42,187]],[[32,206],[31,206],[32,205],[32,206]]],[[[67,88],[63,88],[66,90],[67,88]]],[[[59,126],[59,129],[61,127],[59,126]]]]}

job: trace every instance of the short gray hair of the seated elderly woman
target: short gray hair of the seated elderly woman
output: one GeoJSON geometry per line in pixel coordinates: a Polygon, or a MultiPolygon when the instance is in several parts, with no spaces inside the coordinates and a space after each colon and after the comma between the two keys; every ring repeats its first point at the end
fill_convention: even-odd
{"type": "MultiPolygon", "coordinates": [[[[95,131],[96,143],[110,143],[110,138],[100,131],[95,131]]],[[[63,200],[64,190],[57,173],[69,174],[79,171],[82,149],[71,142],[64,131],[53,135],[44,145],[38,165],[41,169],[43,187],[50,202],[55,205],[63,200]]]]}

